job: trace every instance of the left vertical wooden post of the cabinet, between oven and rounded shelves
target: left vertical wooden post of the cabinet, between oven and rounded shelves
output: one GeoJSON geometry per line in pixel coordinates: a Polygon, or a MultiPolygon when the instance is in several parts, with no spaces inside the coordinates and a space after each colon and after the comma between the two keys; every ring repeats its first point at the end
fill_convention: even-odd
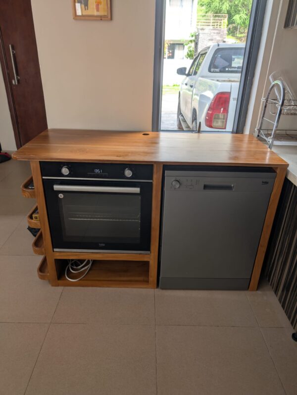
{"type": "Polygon", "coordinates": [[[42,175],[40,170],[40,164],[38,161],[31,161],[31,170],[32,170],[32,175],[35,185],[40,224],[43,232],[45,254],[47,256],[47,263],[49,268],[49,281],[51,285],[57,286],[58,279],[57,279],[55,261],[53,257],[52,246],[51,246],[49,222],[48,222],[46,201],[44,196],[44,188],[42,183],[42,175]]]}

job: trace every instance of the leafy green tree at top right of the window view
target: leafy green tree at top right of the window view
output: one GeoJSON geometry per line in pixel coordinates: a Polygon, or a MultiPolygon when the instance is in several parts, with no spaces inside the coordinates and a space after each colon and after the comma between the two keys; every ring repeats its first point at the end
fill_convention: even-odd
{"type": "Polygon", "coordinates": [[[229,33],[247,34],[252,0],[198,0],[198,12],[228,14],[229,33]]]}

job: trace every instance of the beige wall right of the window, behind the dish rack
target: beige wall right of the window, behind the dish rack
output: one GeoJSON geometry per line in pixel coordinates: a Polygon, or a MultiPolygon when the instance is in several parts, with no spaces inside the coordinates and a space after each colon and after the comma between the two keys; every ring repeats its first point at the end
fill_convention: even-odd
{"type": "MultiPolygon", "coordinates": [[[[274,71],[285,72],[297,95],[297,29],[284,29],[289,0],[267,1],[265,20],[256,64],[255,76],[247,111],[245,133],[254,133],[274,71]],[[275,35],[275,37],[274,37],[275,35]],[[272,50],[272,51],[271,51],[272,50]]],[[[295,128],[296,116],[282,116],[279,128],[295,128]]]]}

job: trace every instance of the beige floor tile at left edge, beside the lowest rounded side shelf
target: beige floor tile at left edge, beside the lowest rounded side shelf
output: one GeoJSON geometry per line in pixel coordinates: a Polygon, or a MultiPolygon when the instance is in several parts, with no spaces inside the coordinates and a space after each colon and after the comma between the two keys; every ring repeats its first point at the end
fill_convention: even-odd
{"type": "Polygon", "coordinates": [[[0,322],[50,322],[61,287],[39,280],[40,256],[0,256],[0,322]]]}

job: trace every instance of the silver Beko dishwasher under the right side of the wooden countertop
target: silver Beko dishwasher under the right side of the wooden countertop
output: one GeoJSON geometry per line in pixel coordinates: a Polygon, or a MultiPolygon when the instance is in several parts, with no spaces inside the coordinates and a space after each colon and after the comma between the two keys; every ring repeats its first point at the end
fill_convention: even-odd
{"type": "Polygon", "coordinates": [[[222,169],[165,171],[160,288],[248,288],[276,173],[222,169]]]}

